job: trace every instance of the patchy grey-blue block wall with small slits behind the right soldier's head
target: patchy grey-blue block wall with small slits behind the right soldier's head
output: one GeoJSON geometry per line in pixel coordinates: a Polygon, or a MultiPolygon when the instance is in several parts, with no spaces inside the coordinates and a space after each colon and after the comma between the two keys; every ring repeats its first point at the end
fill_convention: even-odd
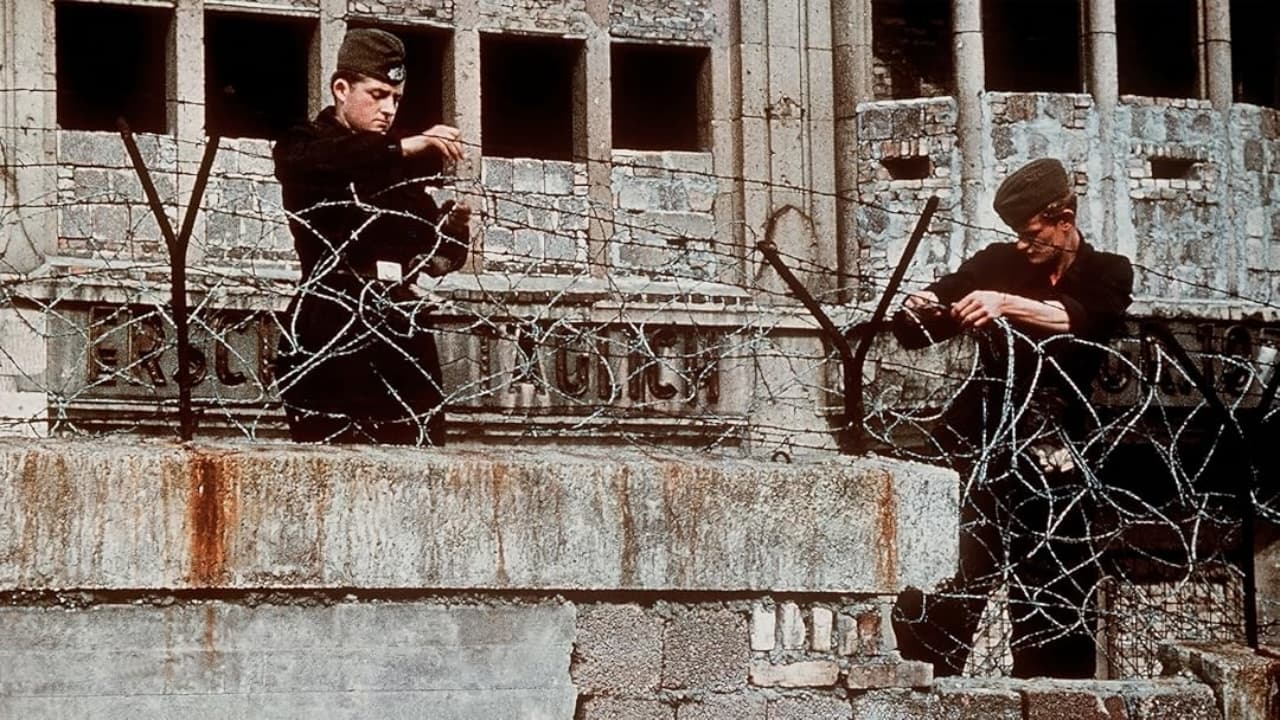
{"type": "Polygon", "coordinates": [[[1135,264],[1140,301],[1178,304],[1261,302],[1277,297],[1280,213],[1274,182],[1280,167],[1277,111],[1236,105],[1222,115],[1203,100],[1125,97],[1116,110],[1115,141],[1103,146],[1088,95],[986,95],[991,137],[978,217],[961,214],[959,159],[950,99],[868,102],[859,106],[859,231],[861,272],[887,275],[897,261],[924,199],[942,199],[938,215],[910,269],[905,288],[919,286],[992,242],[1012,240],[991,209],[1000,182],[1036,158],[1059,158],[1074,174],[1079,224],[1087,240],[1135,264]],[[923,113],[923,114],[922,114],[923,113]],[[1116,168],[1114,195],[1103,159],[1116,168]],[[886,159],[928,156],[929,177],[895,181],[886,159]],[[1110,206],[1115,237],[1102,233],[1110,206]],[[968,227],[965,227],[968,224],[968,227]]]}

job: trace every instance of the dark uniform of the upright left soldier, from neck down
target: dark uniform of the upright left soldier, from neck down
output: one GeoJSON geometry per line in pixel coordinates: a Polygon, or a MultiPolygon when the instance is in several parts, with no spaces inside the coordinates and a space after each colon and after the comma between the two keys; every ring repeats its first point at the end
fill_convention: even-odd
{"type": "Polygon", "coordinates": [[[326,108],[275,145],[289,229],[302,264],[284,318],[276,383],[287,404],[358,419],[410,421],[443,398],[435,341],[407,286],[433,255],[466,259],[468,238],[436,233],[425,192],[439,159],[410,160],[393,136],[356,132],[326,108]],[[402,281],[378,281],[378,263],[402,281]]]}

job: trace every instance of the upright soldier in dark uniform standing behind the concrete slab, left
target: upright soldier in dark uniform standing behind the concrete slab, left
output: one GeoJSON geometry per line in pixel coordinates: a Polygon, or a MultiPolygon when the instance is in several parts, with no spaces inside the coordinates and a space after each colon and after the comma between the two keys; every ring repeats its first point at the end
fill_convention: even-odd
{"type": "Polygon", "coordinates": [[[426,183],[462,158],[457,128],[397,137],[404,46],[379,29],[343,38],[334,104],[275,145],[275,176],[302,265],[276,384],[298,442],[440,445],[444,392],[420,273],[458,269],[471,210],[426,183]]]}

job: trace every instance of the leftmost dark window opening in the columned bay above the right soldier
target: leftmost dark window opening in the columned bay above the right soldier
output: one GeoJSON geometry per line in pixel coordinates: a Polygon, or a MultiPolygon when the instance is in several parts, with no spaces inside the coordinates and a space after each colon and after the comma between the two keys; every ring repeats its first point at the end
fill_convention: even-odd
{"type": "Polygon", "coordinates": [[[872,15],[877,99],[952,92],[948,0],[874,0],[872,15]]]}

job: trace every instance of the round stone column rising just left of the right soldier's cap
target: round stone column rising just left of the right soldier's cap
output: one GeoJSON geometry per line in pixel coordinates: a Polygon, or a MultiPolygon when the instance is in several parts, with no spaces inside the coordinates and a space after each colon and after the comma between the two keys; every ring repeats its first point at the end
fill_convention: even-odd
{"type": "MultiPolygon", "coordinates": [[[[964,220],[979,217],[983,193],[983,108],[987,83],[982,46],[982,0],[951,0],[952,51],[956,70],[956,135],[960,149],[960,206],[964,220]]],[[[973,247],[977,231],[965,228],[965,245],[973,247]]]]}

